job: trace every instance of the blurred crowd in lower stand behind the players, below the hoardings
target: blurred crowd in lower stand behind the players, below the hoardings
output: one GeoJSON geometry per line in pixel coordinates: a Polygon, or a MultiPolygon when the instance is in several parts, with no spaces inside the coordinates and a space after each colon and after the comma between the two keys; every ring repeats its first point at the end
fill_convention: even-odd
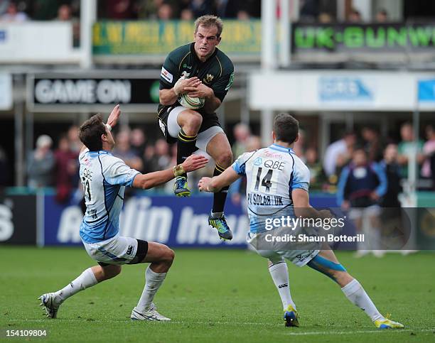
{"type": "MultiPolygon", "coordinates": [[[[404,123],[400,129],[401,140],[383,139],[380,133],[372,127],[364,127],[359,132],[348,131],[338,141],[332,142],[319,158],[318,148],[311,146],[304,139],[304,130],[301,130],[301,139],[294,145],[294,152],[308,166],[311,172],[311,190],[335,193],[339,190],[340,177],[343,177],[345,168],[353,168],[355,155],[363,153],[365,165],[375,163],[385,173],[388,188],[384,197],[385,205],[397,204],[397,195],[402,190],[402,180],[408,177],[408,160],[412,154],[416,155],[418,163],[418,177],[426,180],[426,189],[435,189],[435,128],[426,126],[426,141],[418,140],[414,143],[412,125],[404,123]],[[395,195],[394,195],[395,194],[395,195]]],[[[262,147],[258,136],[254,136],[249,126],[236,124],[232,136],[232,153],[234,158],[245,151],[254,151],[262,147]]],[[[143,173],[170,168],[176,164],[176,145],[168,145],[163,138],[151,141],[143,128],[122,127],[114,134],[116,146],[113,154],[122,158],[127,165],[143,173]]],[[[71,126],[67,132],[58,137],[48,135],[36,139],[36,148],[27,156],[28,187],[55,187],[58,200],[63,202],[79,185],[77,156],[82,144],[77,135],[77,126],[71,126]],[[56,144],[53,144],[53,138],[56,144]]],[[[7,180],[8,163],[5,153],[0,147],[0,181],[7,180]]],[[[190,184],[204,175],[213,175],[214,165],[210,163],[207,168],[192,173],[190,184]]],[[[4,185],[4,183],[2,183],[4,185]]],[[[171,183],[163,185],[158,190],[171,192],[171,183]]],[[[193,187],[194,188],[194,187],[193,187]]],[[[340,190],[339,190],[340,191],[340,190]]],[[[343,190],[342,190],[343,191],[343,190]]],[[[243,185],[238,184],[230,190],[236,193],[235,199],[242,195],[243,185]],[[237,193],[239,195],[237,195],[237,193]]]]}

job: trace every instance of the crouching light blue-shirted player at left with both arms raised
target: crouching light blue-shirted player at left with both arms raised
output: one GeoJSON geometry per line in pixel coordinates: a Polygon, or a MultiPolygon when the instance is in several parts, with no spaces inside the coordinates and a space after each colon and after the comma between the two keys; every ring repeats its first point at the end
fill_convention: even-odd
{"type": "Polygon", "coordinates": [[[157,312],[153,299],[171,268],[174,252],[163,244],[119,236],[124,189],[126,186],[149,189],[161,185],[177,175],[203,168],[208,160],[203,156],[189,156],[173,168],[148,174],[129,168],[111,153],[115,143],[110,131],[120,113],[117,105],[107,124],[103,124],[100,115],[95,115],[80,126],[80,141],[85,144],[79,155],[80,179],[86,202],[80,237],[87,254],[98,266],[87,268],[65,288],[41,295],[39,299],[47,317],[55,318],[59,306],[80,290],[117,276],[123,264],[150,263],[145,272],[144,291],[131,312],[131,319],[170,320],[157,312]]]}

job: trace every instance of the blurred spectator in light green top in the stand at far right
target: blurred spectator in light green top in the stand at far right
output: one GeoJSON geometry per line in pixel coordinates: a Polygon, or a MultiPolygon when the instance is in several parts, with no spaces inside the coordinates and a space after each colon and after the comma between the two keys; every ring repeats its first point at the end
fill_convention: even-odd
{"type": "Polygon", "coordinates": [[[402,141],[397,146],[399,156],[397,156],[397,162],[401,165],[402,177],[408,177],[408,161],[412,155],[417,155],[417,163],[420,165],[423,163],[423,141],[417,140],[417,145],[414,142],[414,128],[409,123],[402,124],[400,128],[400,136],[402,141]]]}

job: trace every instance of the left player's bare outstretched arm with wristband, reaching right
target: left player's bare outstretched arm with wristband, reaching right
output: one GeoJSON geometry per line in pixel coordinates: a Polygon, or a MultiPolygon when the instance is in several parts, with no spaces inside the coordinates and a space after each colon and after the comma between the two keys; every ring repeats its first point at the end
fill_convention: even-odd
{"type": "Polygon", "coordinates": [[[160,170],[148,174],[139,174],[133,180],[133,187],[148,190],[163,183],[167,183],[178,175],[203,168],[208,163],[204,156],[191,155],[186,160],[166,170],[160,170]]]}

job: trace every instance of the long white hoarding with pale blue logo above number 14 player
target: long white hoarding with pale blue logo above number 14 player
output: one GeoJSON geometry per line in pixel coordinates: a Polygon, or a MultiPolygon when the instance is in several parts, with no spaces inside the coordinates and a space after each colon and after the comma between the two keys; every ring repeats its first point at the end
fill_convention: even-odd
{"type": "MultiPolygon", "coordinates": [[[[258,72],[249,77],[249,106],[277,111],[412,111],[423,76],[372,70],[258,72]]],[[[429,111],[435,103],[419,107],[429,111]]]]}

